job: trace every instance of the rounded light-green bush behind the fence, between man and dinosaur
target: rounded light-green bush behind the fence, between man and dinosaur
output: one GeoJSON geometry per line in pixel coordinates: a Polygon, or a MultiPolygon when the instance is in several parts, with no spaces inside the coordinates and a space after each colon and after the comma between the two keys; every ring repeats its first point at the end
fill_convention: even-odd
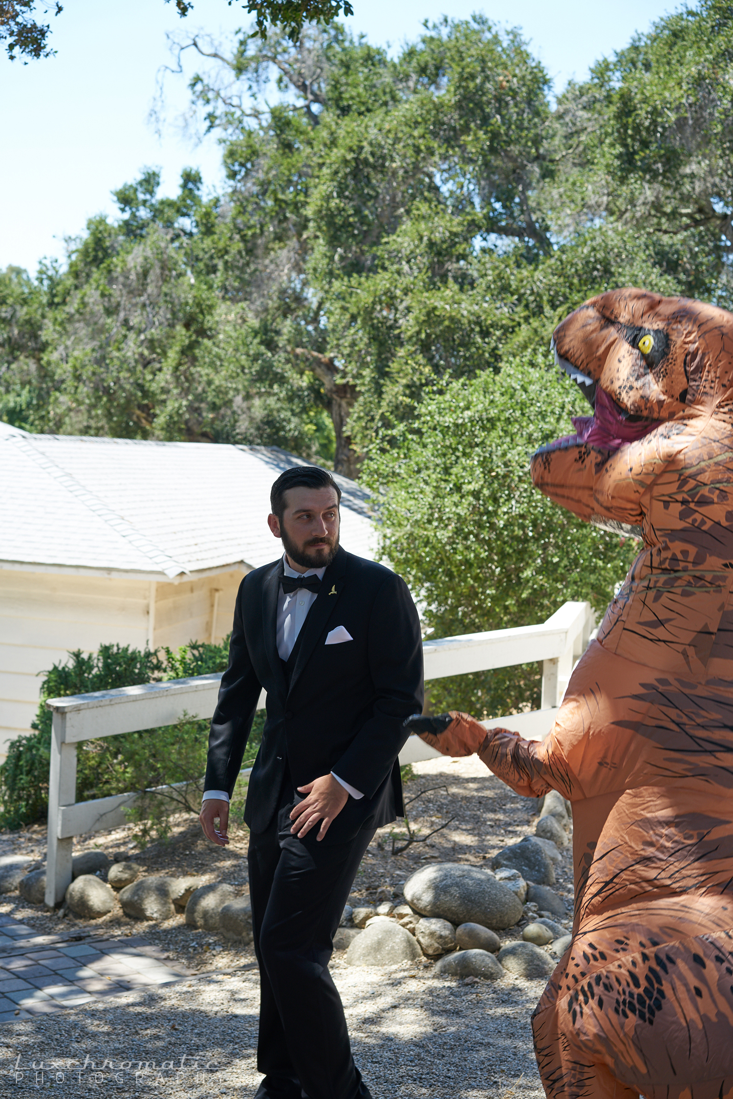
{"type": "MultiPolygon", "coordinates": [[[[584,414],[543,359],[427,397],[410,430],[365,468],[381,548],[425,604],[436,637],[543,622],[567,599],[602,611],[635,555],[633,540],[591,529],[537,492],[530,454],[584,414]]],[[[501,714],[538,703],[538,670],[511,668],[430,685],[433,710],[501,714]]]]}

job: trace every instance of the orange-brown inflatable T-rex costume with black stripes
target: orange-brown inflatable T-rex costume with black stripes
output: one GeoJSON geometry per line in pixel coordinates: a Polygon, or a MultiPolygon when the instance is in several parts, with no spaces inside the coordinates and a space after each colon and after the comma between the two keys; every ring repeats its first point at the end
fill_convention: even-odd
{"type": "Polygon", "coordinates": [[[733,1097],[733,317],[619,290],[554,344],[595,417],[533,481],[644,548],[543,743],[467,714],[424,739],[573,803],[574,937],[532,1019],[547,1096],[733,1097]]]}

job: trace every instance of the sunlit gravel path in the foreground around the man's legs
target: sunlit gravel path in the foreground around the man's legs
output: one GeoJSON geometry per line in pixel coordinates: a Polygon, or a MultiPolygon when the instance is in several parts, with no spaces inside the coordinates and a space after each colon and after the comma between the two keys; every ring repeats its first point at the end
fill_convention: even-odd
{"type": "MultiPolygon", "coordinates": [[[[333,973],[375,1099],[541,1099],[529,1017],[542,981],[466,986],[341,962],[333,973]]],[[[0,1095],[252,1096],[257,1006],[249,969],[5,1024],[0,1095]]]]}

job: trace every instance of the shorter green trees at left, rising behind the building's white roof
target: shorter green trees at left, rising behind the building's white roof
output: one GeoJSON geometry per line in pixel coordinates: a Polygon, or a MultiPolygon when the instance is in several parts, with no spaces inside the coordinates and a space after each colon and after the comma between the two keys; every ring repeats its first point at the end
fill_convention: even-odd
{"type": "Polygon", "coordinates": [[[197,173],[158,199],[145,171],[95,218],[65,271],[0,277],[0,408],[34,431],[279,445],[329,460],[321,384],[273,322],[220,292],[218,202],[197,173]]]}

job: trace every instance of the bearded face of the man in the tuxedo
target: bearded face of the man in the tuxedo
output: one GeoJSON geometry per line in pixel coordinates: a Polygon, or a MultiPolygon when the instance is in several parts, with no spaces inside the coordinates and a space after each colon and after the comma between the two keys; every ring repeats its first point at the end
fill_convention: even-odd
{"type": "Polygon", "coordinates": [[[338,548],[338,499],[332,488],[290,488],[282,519],[268,515],[273,534],[282,539],[297,571],[330,565],[338,548]]]}

